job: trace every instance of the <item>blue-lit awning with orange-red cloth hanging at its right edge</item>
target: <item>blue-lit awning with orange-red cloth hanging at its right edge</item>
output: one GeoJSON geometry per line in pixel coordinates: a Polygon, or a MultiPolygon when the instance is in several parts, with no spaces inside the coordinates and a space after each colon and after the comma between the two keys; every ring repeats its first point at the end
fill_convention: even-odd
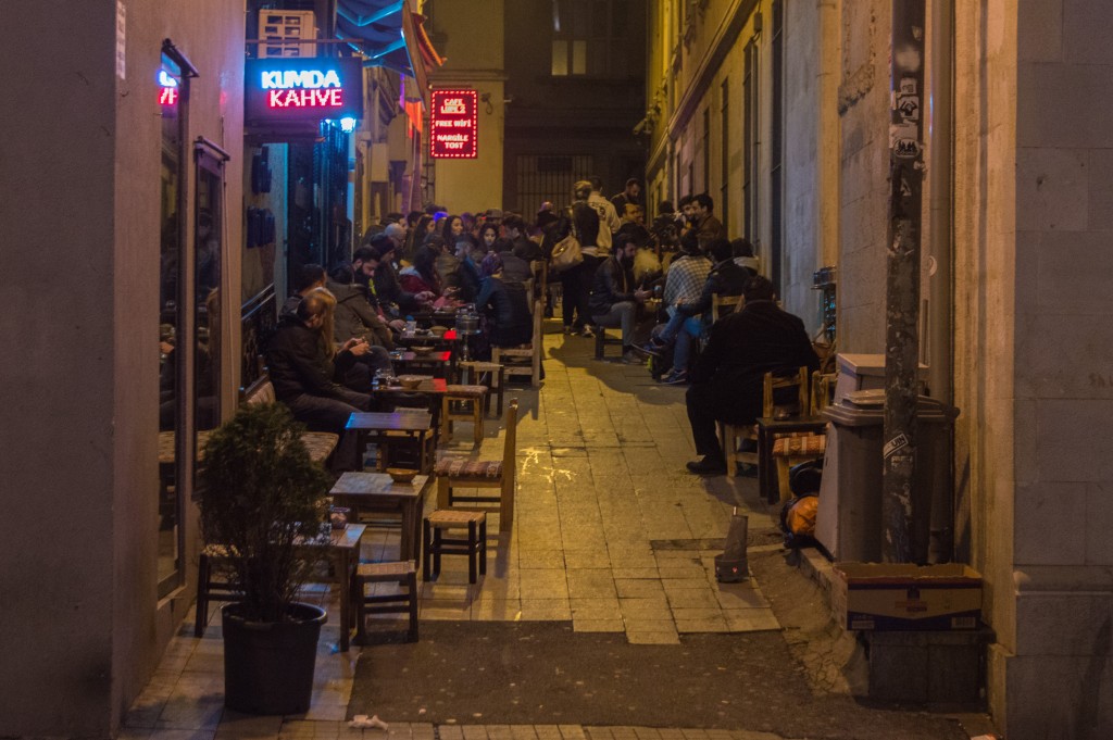
{"type": "Polygon", "coordinates": [[[336,34],[342,39],[362,39],[359,51],[366,55],[365,67],[386,67],[412,77],[406,98],[429,107],[426,65],[441,66],[422,23],[424,17],[410,10],[408,0],[337,0],[336,34]]]}

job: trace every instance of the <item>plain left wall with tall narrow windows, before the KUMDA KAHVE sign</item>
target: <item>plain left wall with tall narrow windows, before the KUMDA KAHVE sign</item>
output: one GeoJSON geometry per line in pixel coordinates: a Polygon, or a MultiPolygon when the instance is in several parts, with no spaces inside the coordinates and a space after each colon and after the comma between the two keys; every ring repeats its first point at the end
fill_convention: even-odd
{"type": "Polygon", "coordinates": [[[244,9],[4,14],[0,716],[108,737],[196,579],[191,476],[160,445],[186,470],[236,403],[244,9]]]}

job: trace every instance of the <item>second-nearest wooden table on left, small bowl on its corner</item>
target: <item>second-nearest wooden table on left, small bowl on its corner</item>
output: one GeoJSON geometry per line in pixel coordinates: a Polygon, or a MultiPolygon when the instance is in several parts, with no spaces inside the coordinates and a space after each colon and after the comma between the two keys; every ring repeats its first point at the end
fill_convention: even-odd
{"type": "MultiPolygon", "coordinates": [[[[398,560],[421,562],[421,514],[432,476],[418,475],[410,483],[395,483],[386,473],[344,473],[328,492],[333,503],[359,512],[397,512],[402,515],[398,560]]],[[[349,525],[351,526],[351,525],[349,525]]],[[[362,524],[359,526],[363,526],[362,524]]]]}

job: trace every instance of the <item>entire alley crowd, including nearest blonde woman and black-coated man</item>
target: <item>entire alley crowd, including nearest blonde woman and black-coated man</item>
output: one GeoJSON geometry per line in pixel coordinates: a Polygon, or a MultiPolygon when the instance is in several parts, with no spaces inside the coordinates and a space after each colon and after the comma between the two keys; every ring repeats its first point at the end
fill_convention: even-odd
{"type": "Polygon", "coordinates": [[[266,347],[278,399],[311,428],[342,435],[337,470],[356,466],[355,441],[344,427],[353,411],[374,407],[371,377],[392,372],[388,349],[405,319],[473,306],[482,336],[472,348],[485,358],[492,347],[529,345],[534,302],[551,316],[555,302],[545,288],[560,284],[565,335],[620,328],[623,362],[671,356],[662,381],[691,384],[686,401],[701,458],[689,468],[720,473],[715,422],[751,423],[764,368],[814,368],[816,356],[802,323],[777,306],[749,241],[727,239],[709,196],[686,196],[677,210],[660,204],[647,228],[638,186],[630,180],[608,200],[598,178],[585,178],[570,206],[543,204],[530,220],[498,208],[449,214],[435,205],[387,215],[351,260],[327,275],[318,265],[299,272],[266,347]],[[541,266],[570,235],[581,258],[550,272],[548,285],[531,293],[541,266]],[[650,302],[653,295],[660,302],[650,302]],[[740,309],[716,322],[712,308],[723,296],[745,300],[727,302],[740,309]],[[636,342],[654,323],[648,343],[636,342]]]}

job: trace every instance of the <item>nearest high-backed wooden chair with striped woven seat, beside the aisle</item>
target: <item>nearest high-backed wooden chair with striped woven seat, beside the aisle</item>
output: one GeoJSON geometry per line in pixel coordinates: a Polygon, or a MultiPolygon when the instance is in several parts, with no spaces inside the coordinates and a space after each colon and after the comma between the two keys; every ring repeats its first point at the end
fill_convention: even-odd
{"type": "Polygon", "coordinates": [[[452,509],[456,502],[465,507],[473,503],[499,504],[499,529],[509,532],[514,519],[515,460],[518,452],[518,398],[511,398],[506,412],[506,438],[503,442],[502,460],[472,460],[445,455],[436,463],[437,509],[452,509]],[[453,489],[500,489],[498,496],[456,496],[453,489]]]}

